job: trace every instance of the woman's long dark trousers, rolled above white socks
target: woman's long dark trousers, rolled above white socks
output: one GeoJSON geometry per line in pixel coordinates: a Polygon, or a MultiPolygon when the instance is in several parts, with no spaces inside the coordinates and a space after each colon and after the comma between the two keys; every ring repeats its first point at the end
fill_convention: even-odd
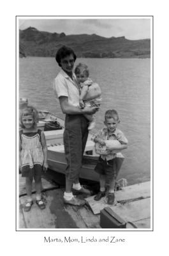
{"type": "Polygon", "coordinates": [[[88,136],[88,121],[84,115],[66,115],[64,127],[66,179],[77,183],[88,136]]]}

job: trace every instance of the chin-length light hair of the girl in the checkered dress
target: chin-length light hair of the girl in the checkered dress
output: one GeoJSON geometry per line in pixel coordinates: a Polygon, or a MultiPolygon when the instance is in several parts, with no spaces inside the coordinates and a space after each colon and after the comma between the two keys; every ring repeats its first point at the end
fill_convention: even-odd
{"type": "Polygon", "coordinates": [[[36,127],[36,124],[39,121],[38,111],[33,106],[27,106],[26,108],[20,111],[20,127],[25,128],[24,124],[22,123],[23,116],[33,116],[34,124],[33,127],[36,127]]]}

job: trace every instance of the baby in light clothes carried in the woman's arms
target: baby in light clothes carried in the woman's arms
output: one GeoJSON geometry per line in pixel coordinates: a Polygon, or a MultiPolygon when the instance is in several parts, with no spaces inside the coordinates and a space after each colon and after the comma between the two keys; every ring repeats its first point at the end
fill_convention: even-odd
{"type": "MultiPolygon", "coordinates": [[[[93,83],[89,78],[89,69],[87,65],[79,63],[75,68],[75,75],[80,84],[80,100],[81,108],[84,107],[100,107],[101,104],[101,89],[97,83],[93,83]]],[[[88,130],[94,128],[96,121],[93,115],[84,115],[89,120],[88,130]]]]}

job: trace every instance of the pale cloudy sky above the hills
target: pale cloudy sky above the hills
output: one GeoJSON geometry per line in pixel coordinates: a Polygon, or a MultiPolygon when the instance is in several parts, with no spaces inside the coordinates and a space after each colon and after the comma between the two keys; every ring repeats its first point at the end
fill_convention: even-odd
{"type": "Polygon", "coordinates": [[[96,34],[110,38],[125,36],[130,40],[151,38],[150,17],[20,17],[19,29],[34,27],[40,31],[66,35],[96,34]]]}

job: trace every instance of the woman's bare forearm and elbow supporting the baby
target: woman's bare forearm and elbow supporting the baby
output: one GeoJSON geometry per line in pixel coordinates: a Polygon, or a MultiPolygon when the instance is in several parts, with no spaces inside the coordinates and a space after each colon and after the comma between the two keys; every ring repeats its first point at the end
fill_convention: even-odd
{"type": "Polygon", "coordinates": [[[62,113],[68,114],[68,115],[84,115],[84,114],[93,115],[94,113],[96,113],[96,111],[98,111],[98,108],[96,107],[93,107],[93,108],[85,107],[84,109],[77,108],[68,102],[68,97],[66,96],[59,97],[59,102],[61,105],[62,113]]]}

